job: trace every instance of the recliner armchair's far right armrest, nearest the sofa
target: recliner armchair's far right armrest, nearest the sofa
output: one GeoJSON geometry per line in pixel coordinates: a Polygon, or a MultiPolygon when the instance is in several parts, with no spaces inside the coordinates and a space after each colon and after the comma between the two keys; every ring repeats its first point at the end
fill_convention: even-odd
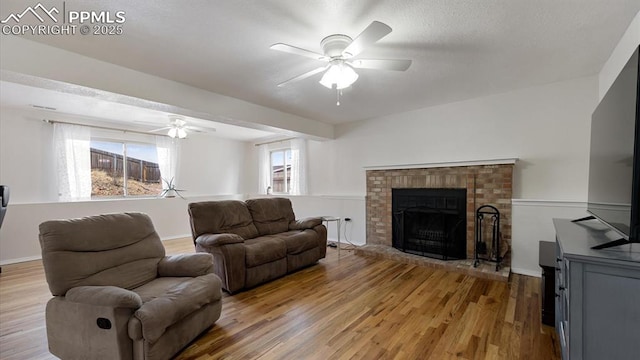
{"type": "Polygon", "coordinates": [[[165,256],[158,263],[158,276],[196,277],[213,272],[213,256],[207,253],[165,256]]]}

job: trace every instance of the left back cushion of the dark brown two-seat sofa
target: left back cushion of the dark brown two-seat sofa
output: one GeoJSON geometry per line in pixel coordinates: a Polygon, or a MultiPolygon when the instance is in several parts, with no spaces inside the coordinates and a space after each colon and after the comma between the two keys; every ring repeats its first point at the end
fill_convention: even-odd
{"type": "Polygon", "coordinates": [[[193,239],[202,234],[230,233],[243,239],[258,236],[251,213],[242,201],[203,201],[189,204],[193,239]]]}

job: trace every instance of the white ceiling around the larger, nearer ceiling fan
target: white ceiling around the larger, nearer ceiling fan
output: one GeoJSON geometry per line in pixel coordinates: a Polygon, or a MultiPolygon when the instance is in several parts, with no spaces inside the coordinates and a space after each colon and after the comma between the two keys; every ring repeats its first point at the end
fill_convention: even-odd
{"type": "MultiPolygon", "coordinates": [[[[640,10],[638,0],[66,0],[67,9],[125,11],[120,36],[33,40],[277,110],[342,123],[597,74],[640,10]],[[313,59],[320,40],[357,36],[373,20],[393,32],[362,58],[412,59],[406,72],[358,70],[344,92],[313,59]]],[[[24,10],[2,0],[0,13],[24,10]]]]}

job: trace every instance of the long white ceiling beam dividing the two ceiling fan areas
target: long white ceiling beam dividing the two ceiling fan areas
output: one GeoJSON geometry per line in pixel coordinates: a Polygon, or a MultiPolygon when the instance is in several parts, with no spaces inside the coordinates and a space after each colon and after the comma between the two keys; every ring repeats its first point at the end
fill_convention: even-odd
{"type": "Polygon", "coordinates": [[[35,41],[6,36],[2,80],[316,140],[334,126],[198,89],[35,41]],[[34,84],[39,82],[39,84],[34,84]]]}

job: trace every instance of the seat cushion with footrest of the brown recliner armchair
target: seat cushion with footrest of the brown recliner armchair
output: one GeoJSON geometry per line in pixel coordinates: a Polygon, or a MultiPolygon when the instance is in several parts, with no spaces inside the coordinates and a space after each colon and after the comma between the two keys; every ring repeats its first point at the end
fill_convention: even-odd
{"type": "Polygon", "coordinates": [[[203,305],[220,300],[220,286],[216,275],[207,274],[196,278],[157,278],[133,289],[143,301],[134,316],[142,324],[145,340],[153,343],[169,326],[203,305]]]}

